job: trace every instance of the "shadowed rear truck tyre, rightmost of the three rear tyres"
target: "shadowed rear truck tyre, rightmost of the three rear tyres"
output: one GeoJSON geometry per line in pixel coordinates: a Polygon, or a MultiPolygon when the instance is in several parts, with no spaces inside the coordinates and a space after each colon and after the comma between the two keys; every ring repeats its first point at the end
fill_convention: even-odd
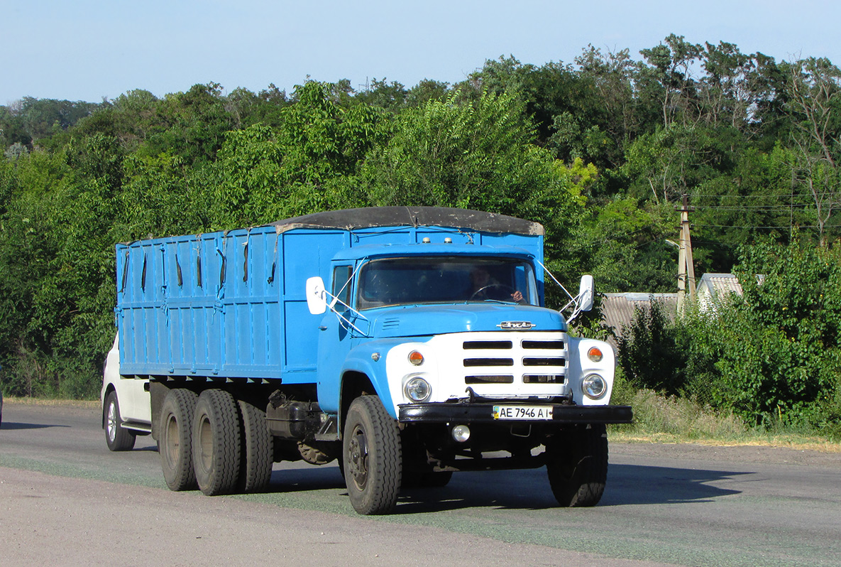
{"type": "Polygon", "coordinates": [[[242,460],[240,489],[261,492],[272,480],[274,437],[268,432],[266,412],[249,402],[240,400],[242,417],[242,460]]]}

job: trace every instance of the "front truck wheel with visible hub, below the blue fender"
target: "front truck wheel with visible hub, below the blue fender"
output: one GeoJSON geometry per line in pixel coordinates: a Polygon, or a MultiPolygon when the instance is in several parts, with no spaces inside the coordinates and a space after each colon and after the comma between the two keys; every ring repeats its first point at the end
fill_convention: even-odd
{"type": "Polygon", "coordinates": [[[353,400],[342,443],[345,484],[353,509],[363,515],[392,511],[400,489],[400,434],[379,398],[353,400]]]}

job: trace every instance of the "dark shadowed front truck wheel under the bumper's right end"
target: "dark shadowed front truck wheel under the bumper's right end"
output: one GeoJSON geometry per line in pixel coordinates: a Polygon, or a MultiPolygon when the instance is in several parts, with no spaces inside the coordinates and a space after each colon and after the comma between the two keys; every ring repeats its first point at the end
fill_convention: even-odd
{"type": "Polygon", "coordinates": [[[560,431],[546,451],[549,485],[558,504],[572,508],[598,504],[607,479],[605,425],[560,431]]]}

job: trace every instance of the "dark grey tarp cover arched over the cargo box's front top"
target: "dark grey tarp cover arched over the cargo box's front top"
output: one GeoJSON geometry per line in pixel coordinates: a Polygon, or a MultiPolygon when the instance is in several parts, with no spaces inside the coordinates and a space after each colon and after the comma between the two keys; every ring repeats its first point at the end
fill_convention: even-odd
{"type": "Polygon", "coordinates": [[[493,212],[470,211],[443,206],[372,206],[341,211],[315,212],[303,217],[270,222],[278,233],[293,228],[340,228],[357,230],[368,227],[449,227],[482,233],[543,234],[538,222],[498,215],[493,212]]]}

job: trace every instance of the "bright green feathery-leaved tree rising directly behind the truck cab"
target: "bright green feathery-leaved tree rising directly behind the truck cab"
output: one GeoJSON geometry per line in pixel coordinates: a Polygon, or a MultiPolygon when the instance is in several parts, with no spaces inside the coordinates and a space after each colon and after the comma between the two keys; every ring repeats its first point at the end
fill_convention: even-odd
{"type": "Polygon", "coordinates": [[[373,147],[358,175],[373,205],[457,206],[532,219],[547,230],[546,256],[558,275],[578,265],[564,238],[579,222],[595,168],[569,167],[534,144],[521,100],[457,93],[405,110],[373,147]]]}

